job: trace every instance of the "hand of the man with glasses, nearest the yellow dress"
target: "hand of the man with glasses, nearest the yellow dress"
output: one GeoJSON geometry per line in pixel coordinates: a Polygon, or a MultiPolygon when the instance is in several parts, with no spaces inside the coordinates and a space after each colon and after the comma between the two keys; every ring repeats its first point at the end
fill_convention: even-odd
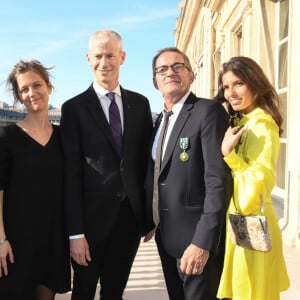
{"type": "Polygon", "coordinates": [[[196,245],[190,244],[180,260],[181,272],[187,275],[200,275],[207,263],[209,252],[196,245]]]}

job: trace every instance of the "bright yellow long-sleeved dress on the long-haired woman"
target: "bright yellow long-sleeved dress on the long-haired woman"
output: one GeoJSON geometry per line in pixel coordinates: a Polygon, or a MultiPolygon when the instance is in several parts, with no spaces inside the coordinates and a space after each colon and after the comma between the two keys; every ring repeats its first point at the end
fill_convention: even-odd
{"type": "Polygon", "coordinates": [[[223,273],[217,297],[234,300],[279,300],[290,285],[282,251],[281,231],[271,200],[279,152],[278,126],[262,109],[256,108],[240,120],[248,130],[239,145],[224,160],[232,170],[235,204],[243,215],[259,214],[260,193],[271,234],[272,250],[260,252],[232,244],[228,228],[223,273]]]}

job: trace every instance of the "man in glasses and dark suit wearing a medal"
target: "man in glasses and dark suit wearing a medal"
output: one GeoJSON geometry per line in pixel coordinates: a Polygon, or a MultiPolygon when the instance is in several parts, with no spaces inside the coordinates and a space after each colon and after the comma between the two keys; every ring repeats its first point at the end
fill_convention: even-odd
{"type": "MultiPolygon", "coordinates": [[[[216,299],[232,188],[221,154],[228,116],[216,101],[190,92],[194,73],[177,48],[160,50],[152,67],[164,112],[157,121],[147,172],[149,226],[156,228],[170,299],[216,299]]],[[[150,237],[151,232],[145,240],[150,237]]]]}

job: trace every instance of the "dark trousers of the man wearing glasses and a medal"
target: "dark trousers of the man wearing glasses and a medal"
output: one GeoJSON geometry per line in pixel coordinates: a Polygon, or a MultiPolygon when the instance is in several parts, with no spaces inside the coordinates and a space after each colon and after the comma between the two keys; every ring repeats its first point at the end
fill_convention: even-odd
{"type": "Polygon", "coordinates": [[[165,251],[159,228],[155,241],[170,300],[217,300],[224,253],[218,256],[211,253],[201,275],[185,275],[180,270],[180,258],[165,251]]]}

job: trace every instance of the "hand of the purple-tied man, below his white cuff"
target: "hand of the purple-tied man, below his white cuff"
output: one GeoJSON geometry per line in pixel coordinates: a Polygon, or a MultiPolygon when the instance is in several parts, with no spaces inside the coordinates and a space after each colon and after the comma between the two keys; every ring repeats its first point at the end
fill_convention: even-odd
{"type": "Polygon", "coordinates": [[[89,245],[85,237],[70,239],[70,255],[78,265],[88,265],[88,262],[92,259],[89,251],[89,245]]]}

